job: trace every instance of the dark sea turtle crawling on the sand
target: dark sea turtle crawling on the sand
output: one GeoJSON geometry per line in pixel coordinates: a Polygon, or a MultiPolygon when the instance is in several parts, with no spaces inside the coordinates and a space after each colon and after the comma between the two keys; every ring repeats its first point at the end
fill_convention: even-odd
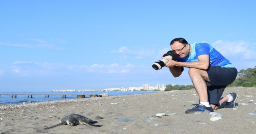
{"type": "Polygon", "coordinates": [[[92,122],[91,119],[86,118],[85,116],[82,116],[80,114],[69,114],[69,115],[66,115],[63,118],[61,118],[59,124],[56,124],[56,125],[50,126],[48,128],[44,128],[44,129],[50,129],[50,128],[54,128],[56,126],[66,125],[66,124],[69,124],[71,126],[76,126],[77,124],[88,124],[91,126],[100,126],[100,125],[91,124],[90,122],[92,122]]]}

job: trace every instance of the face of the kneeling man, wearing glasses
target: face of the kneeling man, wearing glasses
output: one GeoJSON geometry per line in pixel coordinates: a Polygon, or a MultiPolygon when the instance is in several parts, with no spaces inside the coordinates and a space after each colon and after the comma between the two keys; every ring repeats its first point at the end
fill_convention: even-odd
{"type": "Polygon", "coordinates": [[[172,50],[175,51],[175,53],[180,56],[180,58],[184,58],[186,56],[189,56],[190,53],[190,45],[180,43],[180,42],[174,42],[174,44],[171,45],[172,50]]]}

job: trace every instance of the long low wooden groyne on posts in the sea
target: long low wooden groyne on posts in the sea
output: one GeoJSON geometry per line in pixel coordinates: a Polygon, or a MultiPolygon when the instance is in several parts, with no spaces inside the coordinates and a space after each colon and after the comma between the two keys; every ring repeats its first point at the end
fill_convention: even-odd
{"type": "Polygon", "coordinates": [[[44,97],[49,97],[50,95],[62,95],[62,98],[66,98],[66,96],[68,95],[76,95],[77,98],[86,98],[86,96],[88,97],[102,97],[101,94],[0,94],[0,97],[1,95],[8,95],[8,96],[11,96],[12,98],[17,98],[17,95],[27,95],[28,98],[32,98],[32,96],[36,96],[36,95],[44,95],[44,97]]]}

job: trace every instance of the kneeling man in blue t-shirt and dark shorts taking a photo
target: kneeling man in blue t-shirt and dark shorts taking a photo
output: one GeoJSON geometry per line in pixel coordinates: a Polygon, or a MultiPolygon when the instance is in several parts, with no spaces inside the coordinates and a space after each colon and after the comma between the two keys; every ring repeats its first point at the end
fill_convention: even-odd
{"type": "Polygon", "coordinates": [[[188,44],[184,38],[171,41],[172,51],[180,57],[180,62],[168,60],[166,67],[174,77],[181,75],[183,67],[190,68],[188,74],[196,88],[200,103],[186,114],[218,109],[223,103],[226,108],[234,108],[238,94],[233,92],[221,98],[224,89],[237,76],[236,68],[211,45],[205,42],[188,44]]]}

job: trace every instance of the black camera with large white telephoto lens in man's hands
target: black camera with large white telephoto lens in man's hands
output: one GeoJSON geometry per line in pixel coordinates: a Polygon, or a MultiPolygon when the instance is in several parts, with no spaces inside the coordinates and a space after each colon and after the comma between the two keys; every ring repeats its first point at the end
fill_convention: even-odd
{"type": "MultiPolygon", "coordinates": [[[[172,51],[172,50],[170,50],[166,54],[164,54],[163,57],[164,58],[169,58],[169,59],[174,60],[176,62],[180,62],[179,56],[177,54],[174,54],[174,51],[172,51]]],[[[160,70],[168,62],[168,60],[165,60],[164,58],[162,60],[158,60],[157,62],[154,62],[152,64],[152,67],[155,70],[160,70]]]]}

